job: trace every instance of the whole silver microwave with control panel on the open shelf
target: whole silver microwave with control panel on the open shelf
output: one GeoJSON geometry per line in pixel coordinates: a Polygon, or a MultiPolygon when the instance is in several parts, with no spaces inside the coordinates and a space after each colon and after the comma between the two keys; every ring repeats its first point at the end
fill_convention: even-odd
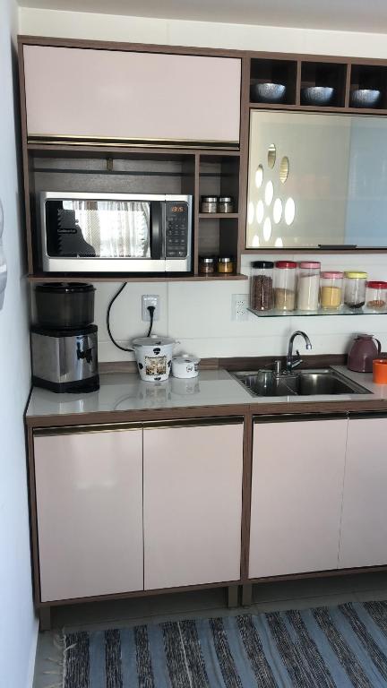
{"type": "Polygon", "coordinates": [[[48,272],[188,272],[189,195],[39,193],[41,268],[48,272]]]}

